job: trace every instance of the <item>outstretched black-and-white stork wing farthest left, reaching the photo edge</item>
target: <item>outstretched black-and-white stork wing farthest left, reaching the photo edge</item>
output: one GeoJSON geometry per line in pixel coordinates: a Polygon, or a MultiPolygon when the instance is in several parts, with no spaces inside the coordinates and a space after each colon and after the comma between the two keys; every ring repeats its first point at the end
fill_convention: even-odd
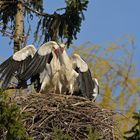
{"type": "MultiPolygon", "coordinates": [[[[36,52],[33,45],[28,45],[9,57],[0,65],[1,88],[6,89],[13,76],[18,76],[25,71],[36,52]]],[[[18,79],[19,80],[19,79],[18,79]]]]}

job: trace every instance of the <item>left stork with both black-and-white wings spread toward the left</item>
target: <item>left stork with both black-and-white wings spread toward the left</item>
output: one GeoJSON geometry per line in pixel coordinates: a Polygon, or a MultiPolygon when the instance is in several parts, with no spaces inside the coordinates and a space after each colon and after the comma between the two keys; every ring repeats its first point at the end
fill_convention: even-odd
{"type": "Polygon", "coordinates": [[[31,79],[36,91],[43,92],[51,86],[61,92],[59,53],[59,46],[54,41],[44,43],[38,50],[33,45],[24,47],[0,65],[0,79],[3,81],[1,88],[6,89],[15,76],[19,88],[31,79]]]}

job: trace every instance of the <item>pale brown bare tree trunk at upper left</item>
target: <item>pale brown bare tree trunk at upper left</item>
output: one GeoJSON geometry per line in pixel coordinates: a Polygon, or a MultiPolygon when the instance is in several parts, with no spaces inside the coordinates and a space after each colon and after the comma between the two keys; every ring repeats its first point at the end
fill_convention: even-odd
{"type": "Polygon", "coordinates": [[[22,48],[24,35],[23,30],[24,30],[23,5],[19,1],[17,4],[17,13],[15,16],[14,53],[22,48]]]}

